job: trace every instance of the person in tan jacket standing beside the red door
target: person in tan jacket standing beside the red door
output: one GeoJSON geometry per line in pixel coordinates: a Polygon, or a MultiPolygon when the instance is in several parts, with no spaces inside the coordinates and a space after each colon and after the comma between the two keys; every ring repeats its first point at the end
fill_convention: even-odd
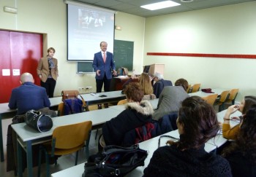
{"type": "Polygon", "coordinates": [[[47,52],[48,55],[39,60],[37,75],[41,79],[41,86],[45,87],[48,97],[53,98],[56,80],[59,76],[58,60],[53,58],[55,53],[55,49],[53,47],[50,47],[47,52]]]}

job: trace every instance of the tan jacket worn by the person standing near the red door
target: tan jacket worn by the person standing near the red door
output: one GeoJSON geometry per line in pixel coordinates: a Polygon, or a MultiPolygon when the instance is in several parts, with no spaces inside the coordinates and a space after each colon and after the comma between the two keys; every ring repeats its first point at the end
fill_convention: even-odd
{"type": "Polygon", "coordinates": [[[49,70],[49,64],[48,64],[48,58],[41,58],[39,60],[38,66],[37,66],[37,75],[42,75],[41,80],[42,82],[46,82],[48,79],[49,74],[53,77],[54,80],[57,80],[57,77],[59,76],[59,70],[58,70],[58,60],[56,58],[53,58],[53,63],[55,68],[51,68],[49,70]]]}

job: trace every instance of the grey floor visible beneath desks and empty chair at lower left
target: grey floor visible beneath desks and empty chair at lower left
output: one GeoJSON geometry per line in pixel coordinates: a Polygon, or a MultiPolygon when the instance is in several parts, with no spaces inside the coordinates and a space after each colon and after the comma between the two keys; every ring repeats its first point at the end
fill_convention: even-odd
{"type": "MultiPolygon", "coordinates": [[[[8,125],[10,125],[12,122],[12,119],[3,119],[2,120],[2,127],[3,127],[3,142],[4,142],[4,162],[0,163],[0,176],[2,177],[13,177],[14,175],[14,171],[10,171],[7,172],[7,149],[6,149],[6,142],[7,142],[7,127],[8,125]]],[[[97,138],[99,138],[99,135],[101,134],[101,130],[99,130],[98,136],[97,138]]],[[[90,154],[96,154],[98,149],[98,145],[97,145],[97,140],[95,140],[95,135],[96,135],[96,130],[93,130],[91,132],[91,139],[90,139],[90,143],[89,143],[89,153],[90,154]]],[[[86,162],[87,157],[86,157],[86,153],[81,150],[79,152],[79,157],[78,157],[78,164],[86,162]]],[[[60,170],[64,170],[66,168],[72,167],[73,165],[75,165],[75,153],[71,154],[71,155],[65,155],[65,156],[61,156],[58,159],[58,164],[57,165],[50,165],[50,173],[56,173],[60,170]]],[[[37,167],[33,168],[33,173],[34,176],[37,176],[37,167]]],[[[46,168],[45,168],[45,164],[42,165],[41,167],[41,176],[45,176],[46,173],[46,168]]],[[[23,176],[27,176],[26,175],[27,172],[26,170],[23,173],[23,176]]],[[[82,176],[82,174],[81,174],[82,176]]]]}

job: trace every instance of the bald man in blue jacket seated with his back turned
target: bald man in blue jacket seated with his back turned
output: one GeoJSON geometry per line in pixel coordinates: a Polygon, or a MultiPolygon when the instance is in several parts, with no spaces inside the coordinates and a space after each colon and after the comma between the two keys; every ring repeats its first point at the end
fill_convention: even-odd
{"type": "Polygon", "coordinates": [[[12,90],[9,101],[10,109],[18,109],[17,114],[25,114],[31,109],[38,110],[50,107],[50,100],[44,87],[34,84],[34,78],[30,73],[20,76],[20,86],[12,90]]]}

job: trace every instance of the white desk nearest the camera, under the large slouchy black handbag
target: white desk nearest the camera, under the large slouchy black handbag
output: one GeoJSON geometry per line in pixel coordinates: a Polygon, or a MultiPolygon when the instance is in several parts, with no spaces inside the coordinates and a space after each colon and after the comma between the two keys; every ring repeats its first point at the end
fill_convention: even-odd
{"type": "MultiPolygon", "coordinates": [[[[174,130],[169,133],[165,133],[164,135],[171,135],[174,138],[179,138],[178,130],[174,130]]],[[[159,136],[139,143],[140,149],[145,149],[148,151],[148,157],[144,161],[145,165],[135,168],[135,170],[132,170],[130,173],[128,173],[126,175],[126,177],[143,176],[143,170],[148,166],[148,164],[151,160],[151,157],[153,156],[154,151],[158,148],[158,139],[159,139],[159,136]]],[[[160,145],[165,146],[165,143],[167,140],[170,140],[170,138],[165,138],[165,137],[161,138],[160,145]]],[[[214,151],[216,148],[217,147],[212,145],[211,143],[205,144],[206,152],[214,151]]],[[[84,171],[84,163],[82,163],[80,165],[76,165],[72,168],[67,168],[65,170],[61,170],[57,173],[53,173],[51,176],[52,177],[82,176],[83,171],[84,171]]]]}

